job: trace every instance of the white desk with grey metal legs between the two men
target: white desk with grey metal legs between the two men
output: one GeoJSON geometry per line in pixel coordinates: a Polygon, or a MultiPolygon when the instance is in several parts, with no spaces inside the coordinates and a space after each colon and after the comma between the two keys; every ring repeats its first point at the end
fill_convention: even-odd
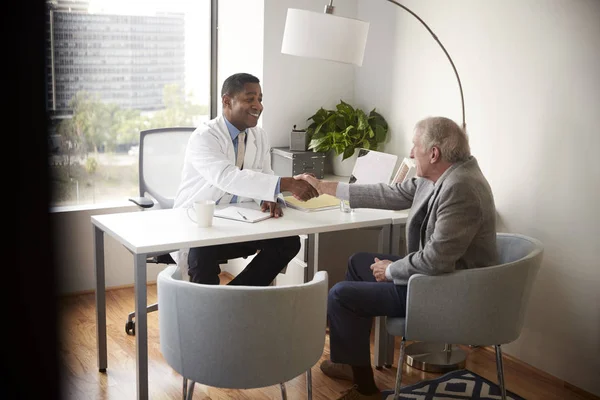
{"type": "MultiPolygon", "coordinates": [[[[106,287],[104,271],[104,234],[115,238],[134,255],[134,290],[136,316],[136,385],[137,398],[148,396],[148,325],[146,292],[146,258],[180,248],[236,243],[249,240],[271,239],[306,234],[309,237],[307,276],[318,270],[318,234],[357,228],[381,228],[379,251],[390,252],[390,238],[402,235],[406,211],[357,209],[351,214],[339,210],[304,213],[285,209],[283,218],[271,218],[255,224],[215,218],[210,228],[198,228],[187,217],[184,209],[135,211],[120,214],[92,216],[94,226],[96,271],[96,340],[98,368],[105,372],[107,362],[106,340],[106,287]],[[395,224],[395,225],[394,225],[395,224]],[[392,227],[402,229],[392,229],[392,227]],[[400,233],[398,233],[401,231],[400,233]]],[[[379,328],[379,336],[383,331],[379,328]]],[[[378,339],[380,340],[380,339],[378,339]]],[[[383,340],[383,351],[389,354],[383,340]]],[[[393,346],[392,346],[393,349],[393,346]]],[[[376,356],[376,361],[381,359],[376,356]]],[[[387,363],[385,363],[387,364],[387,363]]],[[[391,364],[391,362],[389,363],[391,364]]],[[[377,364],[376,365],[381,365],[377,364]]]]}

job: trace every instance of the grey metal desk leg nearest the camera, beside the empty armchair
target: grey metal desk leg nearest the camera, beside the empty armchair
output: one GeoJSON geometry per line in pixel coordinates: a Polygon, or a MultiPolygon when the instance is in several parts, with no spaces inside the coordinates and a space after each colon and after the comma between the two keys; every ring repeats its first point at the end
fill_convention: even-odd
{"type": "Polygon", "coordinates": [[[148,399],[148,311],[146,255],[134,254],[135,342],[138,400],[148,399]]]}

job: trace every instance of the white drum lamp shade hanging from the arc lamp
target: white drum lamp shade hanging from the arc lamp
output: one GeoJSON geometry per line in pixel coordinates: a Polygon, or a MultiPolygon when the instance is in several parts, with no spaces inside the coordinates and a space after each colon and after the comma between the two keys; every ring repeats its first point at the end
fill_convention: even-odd
{"type": "Polygon", "coordinates": [[[332,14],[288,9],[281,52],[362,65],[369,23],[332,14]]]}

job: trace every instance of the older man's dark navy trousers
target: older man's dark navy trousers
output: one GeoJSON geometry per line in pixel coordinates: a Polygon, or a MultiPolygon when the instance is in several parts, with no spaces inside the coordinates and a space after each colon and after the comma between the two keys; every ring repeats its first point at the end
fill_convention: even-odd
{"type": "Polygon", "coordinates": [[[404,317],[406,285],[377,282],[371,271],[375,257],[396,261],[400,257],[356,253],[348,260],[346,280],[329,290],[327,318],[331,361],[354,366],[371,365],[373,317],[404,317]]]}

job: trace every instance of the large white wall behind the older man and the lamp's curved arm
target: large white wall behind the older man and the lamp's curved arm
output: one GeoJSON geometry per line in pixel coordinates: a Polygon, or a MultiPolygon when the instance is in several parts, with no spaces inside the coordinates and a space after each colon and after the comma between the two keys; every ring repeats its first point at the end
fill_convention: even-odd
{"type": "MultiPolygon", "coordinates": [[[[472,152],[494,191],[498,230],[545,245],[521,337],[506,352],[600,395],[600,2],[405,0],[452,56],[472,152]]],[[[452,68],[393,4],[359,2],[371,21],[356,99],[390,122],[406,155],[420,118],[460,122],[452,68]]]]}

